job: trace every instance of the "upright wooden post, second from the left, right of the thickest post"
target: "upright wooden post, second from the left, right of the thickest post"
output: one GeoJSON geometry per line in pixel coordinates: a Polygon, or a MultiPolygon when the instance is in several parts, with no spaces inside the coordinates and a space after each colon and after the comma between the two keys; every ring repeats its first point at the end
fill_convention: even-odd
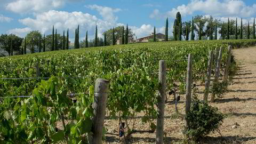
{"type": "Polygon", "coordinates": [[[166,62],[159,61],[158,82],[161,85],[158,95],[157,105],[157,124],[156,124],[156,144],[162,144],[164,139],[164,107],[165,107],[165,89],[166,89],[166,62]]]}

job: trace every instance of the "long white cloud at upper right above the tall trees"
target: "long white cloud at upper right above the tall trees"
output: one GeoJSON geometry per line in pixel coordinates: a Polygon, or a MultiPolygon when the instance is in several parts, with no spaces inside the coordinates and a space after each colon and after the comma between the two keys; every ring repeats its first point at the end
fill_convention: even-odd
{"type": "Polygon", "coordinates": [[[180,12],[182,16],[186,16],[197,11],[217,17],[251,17],[256,14],[256,4],[249,6],[241,0],[191,0],[187,5],[179,5],[168,11],[167,15],[174,18],[177,12],[180,12]]]}

